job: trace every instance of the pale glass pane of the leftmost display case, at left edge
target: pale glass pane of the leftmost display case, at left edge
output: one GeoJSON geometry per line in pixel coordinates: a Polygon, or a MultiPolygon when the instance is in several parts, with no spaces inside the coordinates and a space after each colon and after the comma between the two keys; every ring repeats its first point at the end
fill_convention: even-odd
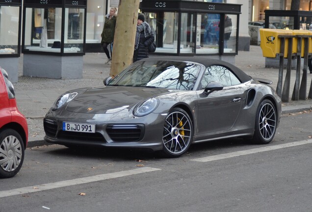
{"type": "Polygon", "coordinates": [[[18,6],[0,6],[0,54],[17,54],[19,40],[18,6]]]}

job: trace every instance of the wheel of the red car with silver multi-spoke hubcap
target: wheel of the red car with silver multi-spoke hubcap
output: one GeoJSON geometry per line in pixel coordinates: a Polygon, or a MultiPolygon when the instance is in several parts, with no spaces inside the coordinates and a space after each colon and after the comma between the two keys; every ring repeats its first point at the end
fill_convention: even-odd
{"type": "Polygon", "coordinates": [[[18,132],[0,131],[0,178],[15,176],[23,165],[24,154],[24,143],[18,132]]]}

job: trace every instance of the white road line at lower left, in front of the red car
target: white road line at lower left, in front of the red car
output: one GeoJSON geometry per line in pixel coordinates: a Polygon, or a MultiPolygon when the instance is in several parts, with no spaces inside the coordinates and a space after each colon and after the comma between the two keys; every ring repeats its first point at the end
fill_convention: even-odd
{"type": "Polygon", "coordinates": [[[25,194],[25,193],[32,193],[32,192],[37,192],[37,191],[49,190],[49,189],[53,189],[53,188],[65,187],[65,186],[70,186],[70,185],[92,183],[92,182],[96,182],[96,181],[125,177],[125,176],[141,174],[141,173],[145,173],[145,172],[152,172],[152,171],[157,171],[157,170],[161,170],[161,169],[144,167],[144,168],[132,169],[132,170],[128,170],[128,171],[120,171],[120,172],[114,172],[114,173],[108,173],[108,174],[102,174],[102,175],[95,175],[95,176],[91,176],[91,177],[78,178],[78,179],[67,180],[67,181],[60,181],[60,182],[56,182],[56,183],[49,183],[49,184],[23,187],[23,188],[16,188],[16,189],[12,189],[12,190],[0,191],[0,198],[18,195],[18,194],[25,194]]]}

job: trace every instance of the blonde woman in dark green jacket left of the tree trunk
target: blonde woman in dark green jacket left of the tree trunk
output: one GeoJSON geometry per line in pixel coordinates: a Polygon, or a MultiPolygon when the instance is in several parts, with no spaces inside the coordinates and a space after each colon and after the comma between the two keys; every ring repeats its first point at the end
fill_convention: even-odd
{"type": "Polygon", "coordinates": [[[112,43],[114,41],[114,34],[115,34],[115,27],[116,27],[116,20],[117,20],[116,12],[117,12],[117,8],[111,8],[109,10],[109,14],[105,16],[103,32],[101,34],[101,37],[102,37],[101,45],[103,46],[104,53],[107,56],[106,63],[111,62],[111,49],[109,53],[107,46],[108,45],[112,46],[112,43]]]}

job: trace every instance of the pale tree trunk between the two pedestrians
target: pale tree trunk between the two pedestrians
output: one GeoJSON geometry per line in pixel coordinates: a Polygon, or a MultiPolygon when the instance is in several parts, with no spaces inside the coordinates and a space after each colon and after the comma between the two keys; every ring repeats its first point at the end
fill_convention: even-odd
{"type": "Polygon", "coordinates": [[[133,59],[140,0],[119,0],[109,76],[116,77],[133,59]]]}

